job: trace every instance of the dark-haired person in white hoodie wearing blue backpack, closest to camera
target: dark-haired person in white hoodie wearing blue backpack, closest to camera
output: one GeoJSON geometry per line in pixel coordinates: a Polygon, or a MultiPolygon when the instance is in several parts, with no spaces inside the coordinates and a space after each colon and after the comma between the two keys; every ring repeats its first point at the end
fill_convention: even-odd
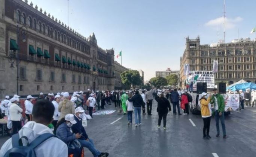
{"type": "Polygon", "coordinates": [[[48,128],[53,120],[54,110],[54,105],[49,100],[38,100],[32,110],[33,121],[27,122],[18,134],[3,144],[0,156],[67,157],[67,145],[48,128]]]}

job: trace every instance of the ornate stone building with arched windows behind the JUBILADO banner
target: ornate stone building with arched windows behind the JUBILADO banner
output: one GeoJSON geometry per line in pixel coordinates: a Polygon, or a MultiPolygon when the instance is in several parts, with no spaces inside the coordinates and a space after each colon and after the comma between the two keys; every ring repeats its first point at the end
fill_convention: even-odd
{"type": "Polygon", "coordinates": [[[184,64],[190,71],[212,71],[214,60],[218,61],[215,82],[232,84],[244,79],[256,82],[256,43],[247,39],[237,39],[231,43],[200,45],[196,39],[186,38],[186,49],[180,58],[180,78],[185,86],[184,64]]]}

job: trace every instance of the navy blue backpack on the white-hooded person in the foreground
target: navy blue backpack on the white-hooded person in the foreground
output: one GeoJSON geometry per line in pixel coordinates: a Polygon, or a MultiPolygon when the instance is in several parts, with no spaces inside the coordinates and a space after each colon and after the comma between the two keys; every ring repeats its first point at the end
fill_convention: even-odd
{"type": "Polygon", "coordinates": [[[27,146],[23,146],[22,138],[27,141],[28,138],[25,136],[19,138],[19,133],[14,134],[12,136],[12,148],[4,154],[4,157],[36,157],[36,152],[34,149],[51,137],[56,136],[54,134],[45,133],[39,135],[39,137],[35,138],[34,141],[32,141],[30,144],[27,144],[27,146]]]}

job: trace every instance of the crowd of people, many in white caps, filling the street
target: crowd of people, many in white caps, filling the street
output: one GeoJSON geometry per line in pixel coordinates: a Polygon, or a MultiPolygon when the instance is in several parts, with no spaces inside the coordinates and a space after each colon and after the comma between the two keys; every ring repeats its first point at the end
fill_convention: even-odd
{"type": "MultiPolygon", "coordinates": [[[[93,118],[93,112],[107,108],[112,102],[115,108],[119,108],[124,115],[127,114],[128,125],[132,125],[132,117],[134,116],[135,127],[141,125],[141,115],[152,115],[153,99],[157,102],[158,124],[161,128],[161,121],[163,119],[163,129],[166,130],[167,114],[173,110],[173,115],[189,115],[189,103],[192,102],[192,96],[188,90],[180,89],[135,89],[135,90],[113,90],[113,91],[91,91],[74,92],[71,96],[68,92],[61,92],[54,95],[49,93],[46,97],[43,93],[36,98],[36,103],[33,104],[35,98],[31,95],[27,96],[25,100],[25,117],[22,116],[23,109],[19,105],[19,96],[14,95],[11,99],[6,96],[5,100],[1,101],[0,109],[1,116],[7,118],[8,128],[12,138],[22,137],[28,135],[28,143],[36,140],[41,135],[46,138],[46,133],[55,135],[49,136],[49,140],[53,143],[63,142],[60,145],[58,154],[56,156],[67,156],[73,154],[74,157],[83,154],[83,147],[88,148],[94,157],[107,157],[109,153],[104,153],[95,148],[94,142],[89,138],[85,131],[83,121],[86,119],[88,112],[93,118]],[[172,108],[171,108],[172,104],[172,108]],[[147,109],[146,109],[147,108],[147,109]],[[182,110],[180,110],[182,109],[182,110]],[[88,110],[88,111],[86,111],[88,110]],[[142,114],[141,114],[142,112],[142,114]],[[24,121],[24,119],[26,119],[24,121]],[[23,126],[23,127],[22,127],[23,126]],[[42,131],[40,131],[42,130],[42,131]]],[[[229,94],[240,94],[241,109],[244,109],[244,102],[247,106],[254,106],[256,102],[256,90],[246,89],[231,92],[229,94]]],[[[203,119],[203,138],[209,140],[211,138],[210,122],[213,115],[216,121],[217,134],[220,136],[219,121],[222,125],[223,138],[227,138],[224,118],[225,102],[217,89],[213,89],[213,94],[202,93],[201,99],[201,116],[203,119]]],[[[42,137],[41,140],[43,139],[42,137]]],[[[49,141],[45,139],[46,141],[49,141]]],[[[5,142],[0,150],[0,155],[4,155],[12,150],[12,140],[5,142]]],[[[38,147],[42,153],[43,148],[52,147],[52,144],[45,144],[38,147]],[[42,147],[42,148],[41,148],[42,147]]],[[[44,152],[46,153],[46,152],[44,152]]]]}

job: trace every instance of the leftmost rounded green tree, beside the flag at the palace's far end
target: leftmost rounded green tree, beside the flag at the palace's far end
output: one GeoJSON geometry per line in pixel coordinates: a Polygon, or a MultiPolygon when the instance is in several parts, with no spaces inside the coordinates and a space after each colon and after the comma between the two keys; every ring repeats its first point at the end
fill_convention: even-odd
{"type": "Polygon", "coordinates": [[[126,86],[140,86],[142,84],[142,79],[140,73],[137,70],[129,70],[121,73],[121,81],[126,86]]]}

